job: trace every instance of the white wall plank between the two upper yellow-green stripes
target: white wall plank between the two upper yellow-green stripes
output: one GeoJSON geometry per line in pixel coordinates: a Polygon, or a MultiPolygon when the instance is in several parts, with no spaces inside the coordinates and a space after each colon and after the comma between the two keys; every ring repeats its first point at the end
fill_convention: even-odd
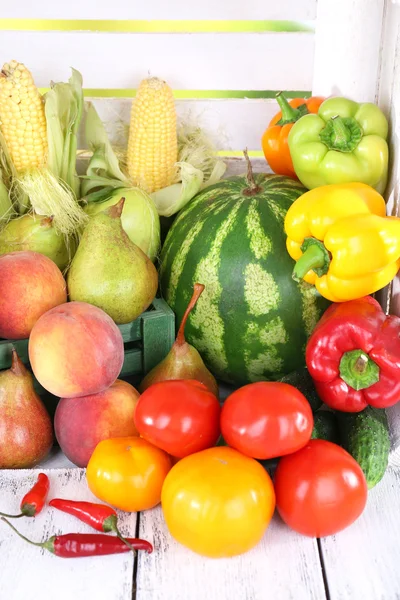
{"type": "Polygon", "coordinates": [[[309,90],[313,53],[314,35],[308,33],[0,35],[2,62],[25,63],[38,87],[67,80],[73,66],[85,88],[136,88],[151,74],[174,89],[309,90]]]}

